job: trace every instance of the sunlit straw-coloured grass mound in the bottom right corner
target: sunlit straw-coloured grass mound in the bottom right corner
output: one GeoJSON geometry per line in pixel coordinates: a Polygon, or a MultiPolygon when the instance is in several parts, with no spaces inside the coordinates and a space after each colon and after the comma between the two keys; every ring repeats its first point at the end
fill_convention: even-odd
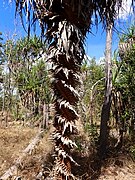
{"type": "Polygon", "coordinates": [[[124,154],[109,158],[101,168],[99,180],[134,180],[135,163],[124,154]]]}

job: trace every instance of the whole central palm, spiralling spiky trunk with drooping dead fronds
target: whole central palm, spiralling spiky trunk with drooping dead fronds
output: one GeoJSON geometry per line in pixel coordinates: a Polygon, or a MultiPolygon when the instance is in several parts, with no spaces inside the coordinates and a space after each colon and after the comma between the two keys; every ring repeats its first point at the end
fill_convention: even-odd
{"type": "Polygon", "coordinates": [[[48,41],[48,59],[53,63],[52,87],[55,92],[55,165],[53,177],[72,179],[70,149],[76,146],[73,134],[78,119],[76,104],[79,94],[80,65],[83,60],[84,40],[90,30],[92,16],[102,22],[113,24],[116,15],[115,5],[121,0],[16,0],[16,11],[28,19],[28,32],[31,23],[39,20],[42,34],[48,41]],[[32,13],[31,13],[32,12],[32,13]]]}

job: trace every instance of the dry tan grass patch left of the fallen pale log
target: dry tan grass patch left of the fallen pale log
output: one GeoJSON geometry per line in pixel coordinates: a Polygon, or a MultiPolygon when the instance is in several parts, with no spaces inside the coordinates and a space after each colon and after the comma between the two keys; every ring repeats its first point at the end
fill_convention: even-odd
{"type": "Polygon", "coordinates": [[[0,128],[0,174],[13,164],[36,132],[22,127],[0,128]]]}

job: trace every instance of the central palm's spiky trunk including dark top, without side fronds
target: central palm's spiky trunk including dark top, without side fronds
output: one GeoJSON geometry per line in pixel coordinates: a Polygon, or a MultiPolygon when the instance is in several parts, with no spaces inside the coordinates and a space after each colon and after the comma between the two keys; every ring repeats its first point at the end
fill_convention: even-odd
{"type": "MultiPolygon", "coordinates": [[[[84,19],[81,16],[80,23],[81,6],[75,1],[71,1],[69,5],[69,1],[55,0],[45,6],[39,3],[38,6],[46,12],[38,19],[41,27],[44,20],[47,21],[48,61],[52,63],[52,88],[55,94],[55,165],[50,178],[68,180],[74,177],[71,164],[78,165],[71,156],[71,149],[76,146],[73,135],[77,132],[75,121],[78,119],[76,105],[79,94],[76,88],[80,81],[80,66],[85,54],[84,38],[90,20],[85,22],[84,19],[88,16],[84,16],[84,19]],[[84,26],[83,23],[87,25],[84,26]]],[[[87,8],[83,4],[83,9],[87,8]]]]}

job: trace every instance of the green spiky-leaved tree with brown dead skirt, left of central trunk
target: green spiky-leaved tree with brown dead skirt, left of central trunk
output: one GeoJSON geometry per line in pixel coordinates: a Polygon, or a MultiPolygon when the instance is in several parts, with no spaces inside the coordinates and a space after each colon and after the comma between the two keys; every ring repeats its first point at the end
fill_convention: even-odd
{"type": "Polygon", "coordinates": [[[34,116],[43,113],[44,103],[51,101],[47,55],[42,46],[45,48],[40,38],[34,36],[8,40],[4,48],[16,95],[20,96],[22,106],[34,116]]]}

